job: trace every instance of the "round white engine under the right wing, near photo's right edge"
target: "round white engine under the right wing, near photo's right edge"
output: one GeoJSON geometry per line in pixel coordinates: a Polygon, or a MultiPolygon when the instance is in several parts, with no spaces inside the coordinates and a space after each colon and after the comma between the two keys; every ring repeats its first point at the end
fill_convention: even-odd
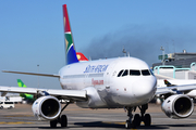
{"type": "Polygon", "coordinates": [[[176,94],[166,99],[161,108],[170,118],[186,118],[192,115],[194,103],[187,95],[176,94]]]}

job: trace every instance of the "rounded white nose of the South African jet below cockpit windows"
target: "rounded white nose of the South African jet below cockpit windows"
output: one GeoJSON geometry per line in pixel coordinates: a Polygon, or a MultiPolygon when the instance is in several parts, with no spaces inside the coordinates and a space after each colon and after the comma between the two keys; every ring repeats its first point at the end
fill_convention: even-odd
{"type": "Polygon", "coordinates": [[[156,78],[144,78],[143,80],[135,81],[132,88],[134,98],[149,102],[154,98],[157,90],[156,84],[156,78]]]}

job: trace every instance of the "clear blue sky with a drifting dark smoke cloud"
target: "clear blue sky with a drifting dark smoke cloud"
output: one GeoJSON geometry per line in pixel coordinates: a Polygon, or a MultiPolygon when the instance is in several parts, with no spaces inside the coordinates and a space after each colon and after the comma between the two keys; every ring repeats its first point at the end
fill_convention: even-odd
{"type": "MultiPolygon", "coordinates": [[[[196,52],[194,0],[7,0],[0,1],[0,70],[58,74],[64,65],[62,4],[68,4],[76,51],[87,57],[131,56],[159,62],[166,53],[196,52]],[[39,65],[39,68],[37,67],[39,65]]],[[[38,77],[0,73],[1,86],[38,77]]],[[[39,77],[40,88],[60,89],[58,79],[39,77]]]]}

